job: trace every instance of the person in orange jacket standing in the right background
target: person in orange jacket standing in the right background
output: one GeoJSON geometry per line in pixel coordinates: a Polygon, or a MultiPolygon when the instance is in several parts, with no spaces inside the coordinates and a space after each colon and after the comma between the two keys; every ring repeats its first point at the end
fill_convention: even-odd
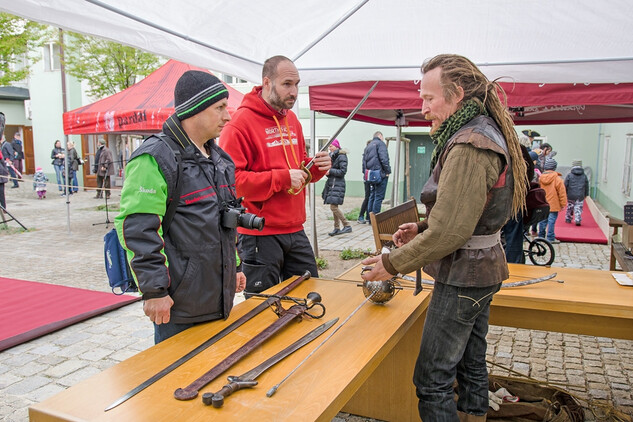
{"type": "Polygon", "coordinates": [[[567,206],[567,195],[565,193],[565,184],[561,179],[561,174],[556,171],[558,163],[553,158],[545,161],[545,171],[539,178],[539,184],[545,189],[545,196],[549,204],[549,215],[547,220],[538,223],[539,237],[547,239],[550,243],[560,243],[556,239],[554,226],[558,218],[558,212],[567,206]],[[545,229],[547,228],[547,237],[545,237],[545,229]]]}

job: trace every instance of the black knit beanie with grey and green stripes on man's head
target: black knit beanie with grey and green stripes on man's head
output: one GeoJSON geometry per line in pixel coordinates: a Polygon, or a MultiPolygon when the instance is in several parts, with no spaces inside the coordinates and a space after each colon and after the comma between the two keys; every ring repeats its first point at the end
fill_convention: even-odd
{"type": "Polygon", "coordinates": [[[174,89],[176,116],[185,120],[223,98],[229,98],[229,91],[218,78],[208,72],[188,70],[178,79],[174,89]]]}

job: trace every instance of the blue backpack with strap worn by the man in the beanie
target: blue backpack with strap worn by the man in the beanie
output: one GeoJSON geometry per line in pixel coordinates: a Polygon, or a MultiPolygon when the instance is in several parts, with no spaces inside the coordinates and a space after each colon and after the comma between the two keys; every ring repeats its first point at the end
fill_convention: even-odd
{"type": "MultiPolygon", "coordinates": [[[[171,220],[174,218],[174,214],[176,214],[176,208],[178,207],[178,201],[174,201],[172,199],[180,197],[180,179],[182,177],[182,166],[180,164],[180,151],[172,144],[171,139],[169,139],[162,133],[156,136],[166,142],[167,145],[169,145],[174,151],[178,168],[176,187],[174,188],[174,192],[171,195],[171,198],[168,199],[167,211],[165,212],[165,216],[163,217],[162,225],[164,236],[169,231],[171,220]]],[[[123,247],[121,246],[121,242],[119,242],[119,236],[116,232],[116,229],[113,228],[103,237],[103,251],[105,255],[106,274],[108,275],[108,282],[110,283],[110,287],[112,288],[112,293],[114,293],[115,295],[122,295],[126,292],[138,292],[138,287],[134,282],[134,277],[132,277],[130,264],[127,262],[125,249],[123,249],[123,247]]]]}

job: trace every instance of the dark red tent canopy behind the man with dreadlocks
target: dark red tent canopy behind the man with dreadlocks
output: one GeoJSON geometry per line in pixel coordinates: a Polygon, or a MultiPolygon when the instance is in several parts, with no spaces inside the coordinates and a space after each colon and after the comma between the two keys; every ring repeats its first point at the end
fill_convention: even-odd
{"type": "MultiPolygon", "coordinates": [[[[347,117],[373,81],[310,87],[310,109],[347,117]]],[[[633,83],[529,84],[501,83],[516,124],[633,122],[633,83]]],[[[419,82],[381,81],[358,111],[355,120],[403,126],[429,126],[420,109],[419,82]]]]}

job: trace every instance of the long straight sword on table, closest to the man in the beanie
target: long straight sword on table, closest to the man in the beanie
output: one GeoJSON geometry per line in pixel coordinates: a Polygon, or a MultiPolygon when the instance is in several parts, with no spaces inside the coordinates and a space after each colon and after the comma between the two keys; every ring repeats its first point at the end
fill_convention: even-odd
{"type": "Polygon", "coordinates": [[[248,313],[244,314],[240,319],[238,319],[237,321],[233,322],[231,325],[227,326],[225,329],[223,329],[222,331],[220,331],[219,333],[217,333],[216,335],[214,335],[213,337],[211,337],[210,339],[208,339],[207,341],[202,343],[200,346],[196,347],[191,352],[187,353],[186,355],[184,355],[183,357],[178,359],[176,362],[172,363],[171,365],[169,365],[168,367],[166,367],[165,369],[163,369],[159,373],[157,373],[155,375],[152,375],[149,379],[147,379],[146,381],[142,382],[140,385],[134,387],[132,390],[128,391],[123,396],[121,396],[118,399],[116,399],[111,405],[109,405],[108,407],[105,408],[104,412],[107,412],[110,409],[114,409],[115,407],[117,407],[121,403],[126,402],[131,397],[134,397],[136,394],[140,393],[141,391],[143,391],[144,389],[146,389],[150,385],[154,384],[156,381],[158,381],[159,379],[161,379],[165,375],[169,374],[171,371],[173,371],[174,369],[178,368],[180,365],[182,365],[183,363],[187,362],[189,359],[193,358],[194,356],[196,356],[197,354],[199,354],[203,350],[207,349],[209,346],[213,345],[218,340],[222,339],[227,334],[229,334],[232,331],[234,331],[237,327],[239,327],[240,325],[244,324],[246,321],[250,320],[255,315],[257,315],[260,312],[262,312],[264,309],[267,309],[273,302],[278,300],[275,296],[284,296],[289,291],[291,291],[292,289],[297,287],[299,284],[301,284],[303,281],[309,279],[311,276],[312,276],[312,274],[310,274],[310,271],[306,271],[301,277],[297,278],[295,281],[293,281],[292,283],[288,284],[287,286],[282,287],[281,289],[279,289],[279,291],[277,293],[275,293],[272,297],[266,299],[265,301],[263,301],[262,303],[257,305],[255,308],[251,309],[248,313]]]}

